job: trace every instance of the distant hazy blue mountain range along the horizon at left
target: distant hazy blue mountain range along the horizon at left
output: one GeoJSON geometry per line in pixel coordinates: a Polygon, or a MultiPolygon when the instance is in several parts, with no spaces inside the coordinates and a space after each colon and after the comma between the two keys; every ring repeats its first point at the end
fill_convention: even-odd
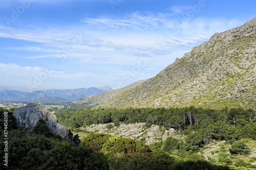
{"type": "Polygon", "coordinates": [[[43,91],[24,92],[17,90],[0,90],[0,101],[33,101],[33,102],[68,102],[85,96],[96,95],[112,90],[110,86],[90,87],[79,89],[49,89],[43,91]]]}

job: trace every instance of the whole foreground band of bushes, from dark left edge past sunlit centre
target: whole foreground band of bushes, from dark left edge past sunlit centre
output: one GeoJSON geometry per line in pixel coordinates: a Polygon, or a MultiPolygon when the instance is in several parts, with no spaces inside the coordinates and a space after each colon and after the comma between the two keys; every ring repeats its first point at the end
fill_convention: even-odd
{"type": "MultiPolygon", "coordinates": [[[[104,134],[91,134],[82,139],[80,147],[52,134],[40,119],[33,132],[19,130],[12,110],[0,108],[0,137],[4,138],[5,116],[8,112],[8,158],[1,157],[1,169],[230,169],[204,161],[181,161],[141,141],[104,134]],[[8,166],[7,166],[8,165],[8,166]],[[192,168],[191,168],[192,167],[192,168]]],[[[6,133],[6,132],[5,132],[6,133]]],[[[6,135],[6,134],[5,134],[6,135]]],[[[4,155],[5,143],[0,143],[4,155]]]]}

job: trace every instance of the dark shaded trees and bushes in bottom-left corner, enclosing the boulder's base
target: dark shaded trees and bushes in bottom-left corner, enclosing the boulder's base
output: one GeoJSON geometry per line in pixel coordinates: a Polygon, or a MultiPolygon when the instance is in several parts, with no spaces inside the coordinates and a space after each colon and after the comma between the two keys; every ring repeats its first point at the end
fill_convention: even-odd
{"type": "Polygon", "coordinates": [[[9,138],[8,147],[0,143],[0,169],[109,169],[108,159],[103,154],[77,148],[75,143],[52,134],[44,120],[38,122],[31,133],[17,129],[12,110],[0,108],[0,137],[6,138],[5,130],[9,138]],[[8,112],[8,126],[4,126],[3,112],[8,112]],[[7,159],[3,156],[6,153],[7,159]],[[4,160],[7,160],[6,165],[4,160]]]}

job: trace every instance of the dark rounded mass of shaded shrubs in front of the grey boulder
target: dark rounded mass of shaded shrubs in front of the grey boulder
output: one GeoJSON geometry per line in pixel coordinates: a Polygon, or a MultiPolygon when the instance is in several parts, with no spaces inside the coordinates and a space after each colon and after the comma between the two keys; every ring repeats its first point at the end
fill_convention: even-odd
{"type": "MultiPolygon", "coordinates": [[[[3,147],[3,142],[0,147],[3,147]]],[[[25,131],[9,133],[8,169],[109,169],[106,157],[73,142],[44,135],[28,136],[25,131]]],[[[0,158],[3,162],[3,158],[0,158]]],[[[3,163],[0,169],[5,169],[3,163]]]]}

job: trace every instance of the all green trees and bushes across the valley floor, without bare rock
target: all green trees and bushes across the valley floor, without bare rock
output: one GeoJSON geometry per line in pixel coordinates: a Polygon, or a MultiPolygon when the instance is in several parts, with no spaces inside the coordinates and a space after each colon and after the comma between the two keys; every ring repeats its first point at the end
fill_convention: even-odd
{"type": "MultiPolygon", "coordinates": [[[[145,145],[143,141],[111,136],[87,134],[79,147],[49,131],[44,120],[39,120],[33,132],[19,130],[15,125],[13,109],[0,109],[1,131],[4,138],[4,115],[8,111],[8,159],[1,169],[230,169],[235,164],[255,168],[238,158],[232,162],[225,149],[218,153],[218,160],[205,161],[196,154],[202,145],[213,140],[230,142],[230,152],[246,155],[250,152],[241,138],[256,137],[254,110],[231,108],[212,110],[202,108],[144,108],[144,109],[89,109],[63,108],[55,110],[60,124],[79,131],[79,127],[91,124],[136,122],[146,126],[159,125],[175,128],[186,138],[168,137],[165,141],[145,145]],[[217,165],[221,162],[220,165],[217,165]]],[[[5,145],[0,144],[4,155],[5,145]]],[[[1,157],[1,162],[4,158],[1,157]]]]}

